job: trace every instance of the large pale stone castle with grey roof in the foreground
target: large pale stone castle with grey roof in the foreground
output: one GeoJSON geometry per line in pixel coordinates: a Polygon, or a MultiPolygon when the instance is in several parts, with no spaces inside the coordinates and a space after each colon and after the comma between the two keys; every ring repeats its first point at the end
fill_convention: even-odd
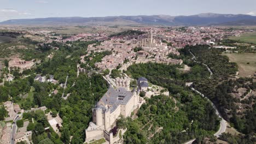
{"type": "Polygon", "coordinates": [[[85,142],[104,137],[109,143],[113,143],[115,139],[110,130],[114,127],[117,118],[120,115],[124,117],[131,116],[132,111],[139,106],[141,106],[139,94],[135,89],[127,91],[124,87],[117,89],[110,87],[98,101],[95,108],[92,109],[92,122],[85,130],[85,142]]]}

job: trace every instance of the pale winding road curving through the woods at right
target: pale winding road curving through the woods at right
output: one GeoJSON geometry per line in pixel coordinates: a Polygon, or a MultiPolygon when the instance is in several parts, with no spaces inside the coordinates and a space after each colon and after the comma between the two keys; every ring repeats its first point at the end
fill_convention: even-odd
{"type": "MultiPolygon", "coordinates": [[[[195,61],[195,55],[189,50],[189,52],[191,53],[191,55],[193,56],[193,60],[194,62],[197,62],[195,61]]],[[[200,62],[197,62],[197,63],[200,63],[200,62]]],[[[208,71],[210,72],[210,77],[209,79],[211,79],[211,76],[213,75],[212,73],[212,70],[208,67],[207,64],[204,64],[204,63],[201,63],[203,65],[205,65],[208,69],[208,71]]],[[[200,94],[202,97],[206,98],[208,101],[210,101],[211,105],[214,107],[215,111],[216,111],[216,115],[219,116],[219,118],[221,118],[222,120],[220,121],[220,127],[219,127],[219,130],[214,134],[214,136],[217,136],[219,137],[220,135],[222,135],[222,133],[224,133],[226,131],[226,125],[227,125],[227,122],[225,121],[225,119],[220,115],[217,107],[212,103],[212,101],[210,99],[208,99],[207,97],[205,97],[205,95],[203,95],[201,92],[197,91],[195,88],[193,87],[190,87],[193,91],[195,91],[196,93],[200,94]]],[[[184,144],[191,144],[195,141],[195,139],[193,140],[189,140],[187,142],[185,142],[184,144]]]]}

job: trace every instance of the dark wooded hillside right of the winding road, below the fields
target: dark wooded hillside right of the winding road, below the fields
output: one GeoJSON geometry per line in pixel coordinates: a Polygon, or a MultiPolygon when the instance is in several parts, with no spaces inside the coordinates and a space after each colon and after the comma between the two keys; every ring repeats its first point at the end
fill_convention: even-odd
{"type": "Polygon", "coordinates": [[[181,51],[182,55],[191,57],[189,50],[194,53],[196,61],[207,64],[213,71],[212,79],[195,81],[193,87],[210,98],[223,118],[238,131],[246,136],[255,133],[255,96],[243,99],[251,90],[255,91],[256,83],[253,79],[243,77],[232,79],[238,71],[237,65],[230,63],[228,57],[220,55],[223,50],[210,49],[204,45],[186,46],[181,51]],[[246,89],[241,98],[231,95],[238,93],[239,88],[246,89]],[[238,112],[241,108],[237,105],[241,105],[243,110],[238,112]]]}

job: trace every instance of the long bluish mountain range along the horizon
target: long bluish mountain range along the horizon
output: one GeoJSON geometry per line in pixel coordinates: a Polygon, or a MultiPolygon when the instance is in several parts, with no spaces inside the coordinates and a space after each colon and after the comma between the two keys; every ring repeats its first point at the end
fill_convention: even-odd
{"type": "Polygon", "coordinates": [[[256,25],[256,16],[204,13],[190,16],[139,15],[106,17],[48,17],[37,19],[16,19],[0,22],[0,25],[72,25],[72,24],[117,24],[117,25],[168,25],[168,26],[210,26],[210,25],[256,25]]]}

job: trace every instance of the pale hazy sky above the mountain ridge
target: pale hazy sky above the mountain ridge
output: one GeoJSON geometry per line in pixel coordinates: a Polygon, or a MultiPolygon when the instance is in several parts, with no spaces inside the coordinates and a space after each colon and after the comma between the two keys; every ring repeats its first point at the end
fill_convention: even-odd
{"type": "Polygon", "coordinates": [[[38,17],[201,13],[256,16],[256,0],[0,0],[0,21],[38,17]]]}

